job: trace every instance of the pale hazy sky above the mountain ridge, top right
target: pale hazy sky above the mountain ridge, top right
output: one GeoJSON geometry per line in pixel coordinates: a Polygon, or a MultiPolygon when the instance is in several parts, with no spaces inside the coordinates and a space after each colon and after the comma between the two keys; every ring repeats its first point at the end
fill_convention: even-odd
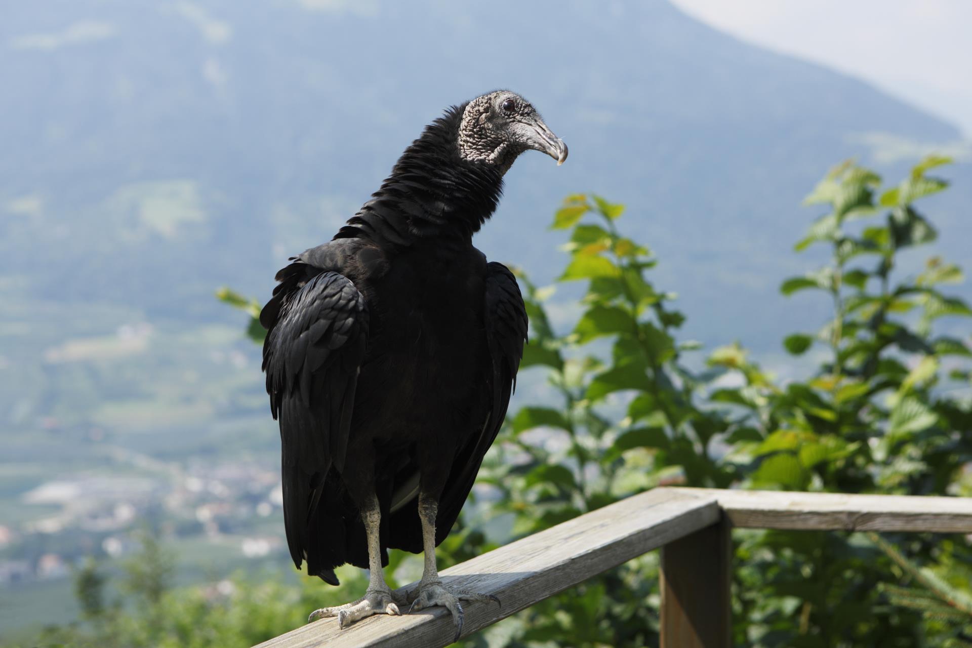
{"type": "Polygon", "coordinates": [[[865,79],[972,139],[969,0],[673,0],[721,31],[865,79]]]}

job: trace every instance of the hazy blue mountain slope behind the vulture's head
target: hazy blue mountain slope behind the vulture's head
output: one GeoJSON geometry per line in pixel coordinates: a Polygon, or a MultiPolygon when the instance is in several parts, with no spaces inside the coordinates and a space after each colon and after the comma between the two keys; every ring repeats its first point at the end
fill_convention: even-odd
{"type": "Polygon", "coordinates": [[[212,317],[221,283],[265,294],[441,107],[494,86],[531,97],[572,158],[519,163],[480,244],[549,276],[548,214],[597,190],[639,215],[628,226],[690,312],[725,300],[725,281],[734,303],[776,281],[760,256],[786,254],[799,227],[787,215],[802,224],[796,200],[855,152],[849,134],[956,136],[663,2],[61,0],[18,4],[0,29],[0,205],[38,204],[0,221],[5,270],[51,251],[31,272],[42,294],[156,316],[212,317]],[[727,263],[737,271],[713,278],[727,263]]]}

